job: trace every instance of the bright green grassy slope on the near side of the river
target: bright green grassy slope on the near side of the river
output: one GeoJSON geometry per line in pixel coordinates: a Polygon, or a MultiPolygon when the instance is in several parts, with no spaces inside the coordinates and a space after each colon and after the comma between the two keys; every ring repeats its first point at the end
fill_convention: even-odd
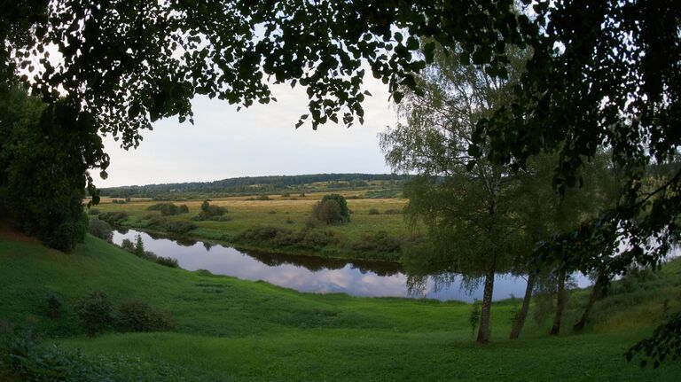
{"type": "Polygon", "coordinates": [[[0,319],[35,322],[53,338],[48,342],[82,348],[86,355],[122,357],[127,361],[121,370],[169,365],[166,372],[177,378],[677,380],[681,365],[640,370],[624,362],[622,352],[650,332],[660,299],[679,294],[669,280],[678,279],[680,270],[677,261],[654,290],[639,288],[604,301],[600,305],[611,315],[604,318],[603,308],[597,309],[599,322],[582,335],[547,338],[545,328],[530,322],[522,339],[507,340],[519,303],[499,302],[493,308],[494,342],[480,347],[471,341],[470,306],[464,303],[305,294],[164,268],[97,238],[63,254],[0,237],[0,319]],[[78,335],[70,308],[93,289],[109,292],[116,302],[140,299],[167,309],[176,332],[78,335]],[[48,291],[65,301],[56,321],[43,316],[48,291]],[[628,308],[632,299],[637,304],[628,308]]]}

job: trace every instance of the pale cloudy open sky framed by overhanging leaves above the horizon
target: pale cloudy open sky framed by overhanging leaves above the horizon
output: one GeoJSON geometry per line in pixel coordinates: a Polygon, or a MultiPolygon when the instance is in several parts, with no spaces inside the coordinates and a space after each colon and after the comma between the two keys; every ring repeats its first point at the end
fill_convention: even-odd
{"type": "MultiPolygon", "coordinates": [[[[367,76],[369,77],[369,76],[367,76]]],[[[390,173],[378,134],[394,126],[397,116],[387,85],[365,78],[373,97],[364,101],[364,125],[347,129],[333,122],[316,131],[309,123],[295,129],[307,113],[304,88],[272,87],[278,102],[256,104],[237,112],[236,105],[207,97],[192,101],[194,124],[176,118],[157,121],[142,132],[137,149],[122,150],[106,136],[111,156],[108,178],[98,187],[150,183],[209,182],[235,176],[319,173],[390,173]]]]}

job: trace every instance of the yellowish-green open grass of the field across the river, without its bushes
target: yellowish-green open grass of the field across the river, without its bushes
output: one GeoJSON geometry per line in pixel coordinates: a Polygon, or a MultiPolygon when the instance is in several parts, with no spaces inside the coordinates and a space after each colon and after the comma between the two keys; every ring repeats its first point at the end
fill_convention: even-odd
{"type": "MultiPolygon", "coordinates": [[[[341,225],[325,225],[315,222],[312,218],[312,207],[326,193],[308,193],[305,196],[294,195],[282,197],[270,195],[270,200],[250,200],[253,197],[231,197],[211,199],[211,205],[226,207],[229,219],[226,222],[192,222],[191,218],[200,212],[203,200],[175,201],[176,205],[187,205],[188,214],[164,216],[168,221],[192,222],[196,229],[189,231],[186,236],[197,239],[207,239],[231,243],[240,233],[257,227],[276,227],[283,230],[300,231],[309,226],[309,222],[317,224],[317,230],[333,232],[333,243],[309,250],[305,248],[282,248],[272,246],[266,242],[239,243],[240,246],[279,253],[296,253],[306,255],[321,255],[337,258],[361,258],[371,260],[397,261],[399,253],[386,253],[380,251],[357,251],[353,249],[354,243],[360,243],[379,231],[385,231],[389,238],[404,241],[418,234],[418,230],[408,227],[401,212],[406,204],[406,199],[351,199],[358,197],[364,191],[341,191],[348,198],[348,207],[352,211],[350,222],[341,225]],[[370,210],[377,210],[378,214],[370,214],[370,210]],[[388,214],[386,214],[388,211],[388,214]],[[392,213],[392,214],[391,214],[392,213]]],[[[164,230],[149,227],[149,218],[160,216],[158,211],[148,211],[147,208],[159,203],[151,199],[131,199],[126,204],[114,204],[112,199],[103,198],[101,203],[94,207],[102,213],[124,211],[129,218],[123,225],[130,228],[164,230]]]]}

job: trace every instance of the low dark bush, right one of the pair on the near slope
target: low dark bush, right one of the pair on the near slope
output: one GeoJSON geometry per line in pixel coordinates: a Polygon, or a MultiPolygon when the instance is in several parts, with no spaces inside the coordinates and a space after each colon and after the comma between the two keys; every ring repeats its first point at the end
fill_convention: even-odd
{"type": "Polygon", "coordinates": [[[120,331],[169,331],[175,325],[168,313],[143,301],[128,301],[118,308],[116,324],[120,331]]]}

